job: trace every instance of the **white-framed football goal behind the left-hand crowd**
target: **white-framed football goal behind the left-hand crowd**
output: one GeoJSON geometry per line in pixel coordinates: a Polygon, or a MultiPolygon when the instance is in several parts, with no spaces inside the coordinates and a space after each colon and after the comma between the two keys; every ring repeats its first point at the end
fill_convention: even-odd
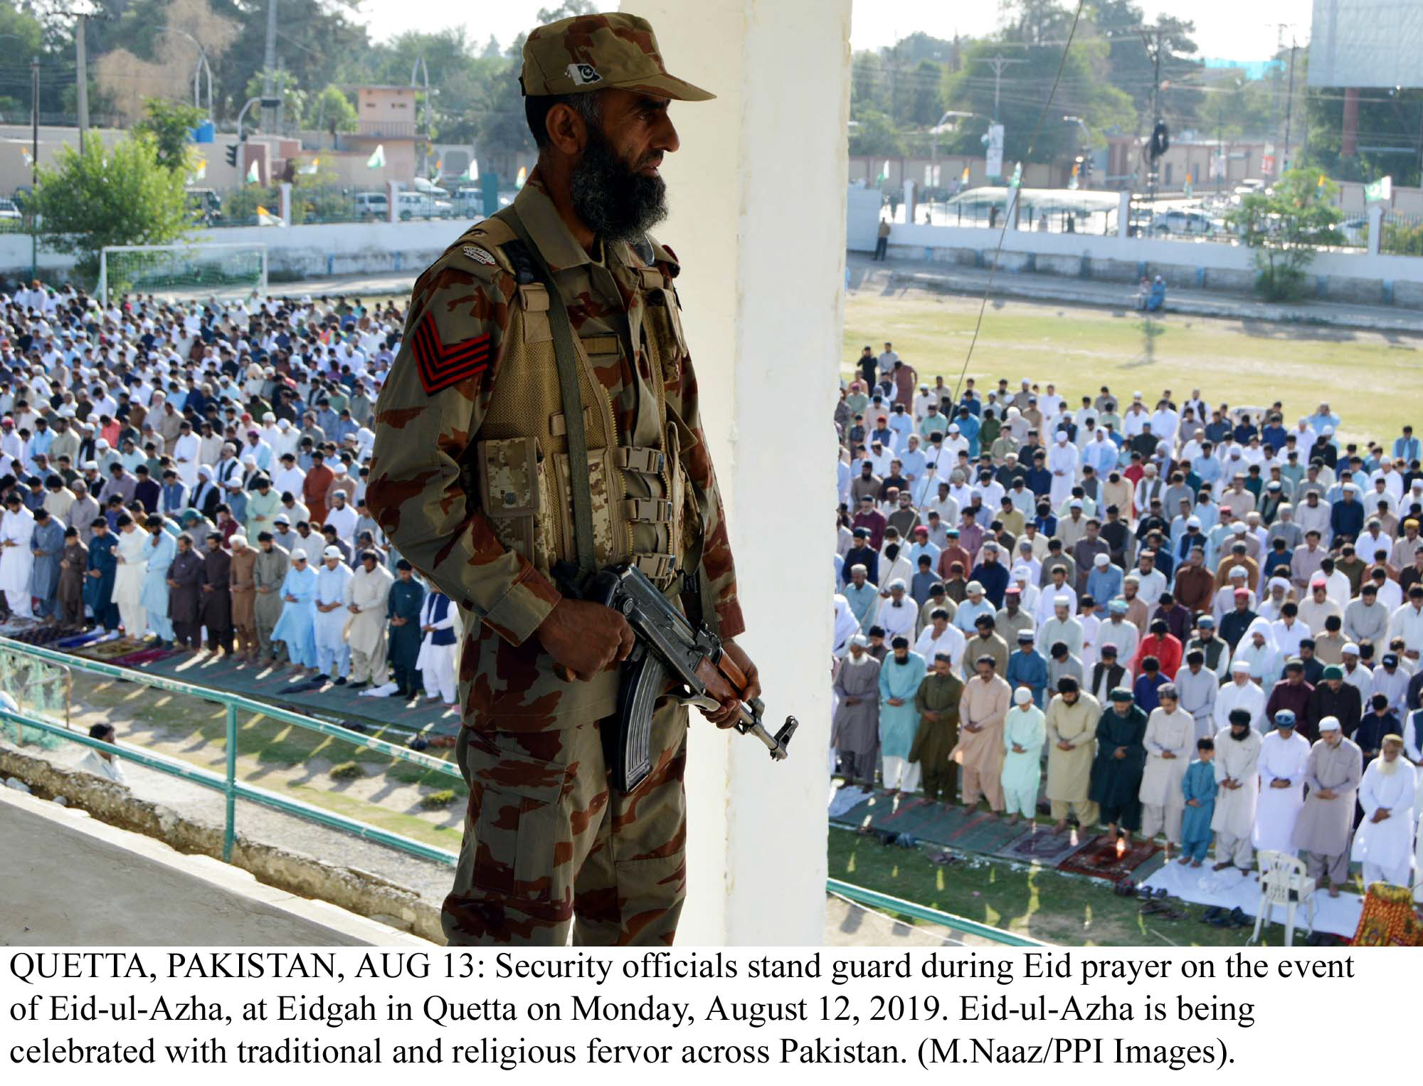
{"type": "Polygon", "coordinates": [[[266,245],[105,245],[100,253],[102,305],[121,295],[266,297],[266,245]]]}

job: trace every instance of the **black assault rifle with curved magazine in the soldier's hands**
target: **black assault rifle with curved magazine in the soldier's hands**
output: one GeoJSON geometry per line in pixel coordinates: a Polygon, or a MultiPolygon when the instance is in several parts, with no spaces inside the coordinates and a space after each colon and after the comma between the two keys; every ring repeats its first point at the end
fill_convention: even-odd
{"type": "MultiPolygon", "coordinates": [[[[652,771],[652,709],[669,682],[687,692],[682,696],[683,705],[716,709],[719,702],[707,695],[709,679],[720,673],[739,693],[746,690],[747,679],[726,655],[721,639],[706,625],[687,622],[636,566],[619,564],[593,574],[581,595],[622,612],[636,635],[618,685],[618,734],[603,736],[613,786],[629,793],[652,771]]],[[[761,724],[764,710],[758,697],[743,700],[736,730],[756,736],[771,752],[771,759],[780,761],[800,722],[787,716],[773,736],[761,724]]]]}

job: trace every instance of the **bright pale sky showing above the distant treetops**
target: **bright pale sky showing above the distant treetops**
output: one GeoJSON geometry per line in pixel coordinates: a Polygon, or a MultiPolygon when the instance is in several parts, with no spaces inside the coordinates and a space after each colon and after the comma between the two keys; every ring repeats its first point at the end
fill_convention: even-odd
{"type": "MultiPolygon", "coordinates": [[[[689,0],[693,3],[694,0],[689,0]]],[[[1266,60],[1275,51],[1279,30],[1278,23],[1292,24],[1285,31],[1285,44],[1294,33],[1301,44],[1309,38],[1311,0],[1138,0],[1147,19],[1161,13],[1185,16],[1195,20],[1195,41],[1201,54],[1227,60],[1266,60]],[[1241,17],[1241,10],[1245,17],[1241,17]]],[[[501,44],[508,46],[517,34],[528,30],[541,7],[552,7],[549,0],[485,0],[481,4],[425,6],[420,20],[421,30],[441,30],[447,26],[464,24],[475,41],[487,41],[494,34],[501,44]],[[462,16],[471,9],[477,17],[462,16]],[[438,11],[440,14],[435,14],[438,11]],[[450,13],[450,14],[444,14],[450,13]],[[460,14],[457,14],[460,13],[460,14]]],[[[599,3],[599,9],[612,11],[616,3],[599,3]]],[[[410,0],[364,0],[361,4],[371,31],[377,40],[384,40],[410,28],[410,0]]],[[[945,0],[861,0],[854,9],[851,44],[854,48],[879,48],[891,46],[896,38],[924,30],[933,37],[952,38],[959,34],[978,36],[998,26],[998,4],[993,0],[978,3],[945,3],[945,0]]]]}

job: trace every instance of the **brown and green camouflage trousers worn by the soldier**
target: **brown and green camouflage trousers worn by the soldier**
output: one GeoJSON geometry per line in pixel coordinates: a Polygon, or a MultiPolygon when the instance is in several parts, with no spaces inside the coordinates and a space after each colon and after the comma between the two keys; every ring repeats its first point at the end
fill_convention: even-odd
{"type": "Polygon", "coordinates": [[[602,727],[462,729],[464,843],[441,924],[450,945],[670,945],[686,897],[687,710],[653,713],[652,773],[608,781],[602,727]]]}

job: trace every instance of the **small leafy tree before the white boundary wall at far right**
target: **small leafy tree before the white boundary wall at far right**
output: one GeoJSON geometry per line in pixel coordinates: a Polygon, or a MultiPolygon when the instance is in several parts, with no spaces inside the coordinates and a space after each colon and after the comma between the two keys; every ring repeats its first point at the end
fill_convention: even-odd
{"type": "Polygon", "coordinates": [[[1269,302],[1299,297],[1305,268],[1325,245],[1343,245],[1339,186],[1312,169],[1291,169],[1272,189],[1241,198],[1225,221],[1255,251],[1255,288],[1269,302]]]}

